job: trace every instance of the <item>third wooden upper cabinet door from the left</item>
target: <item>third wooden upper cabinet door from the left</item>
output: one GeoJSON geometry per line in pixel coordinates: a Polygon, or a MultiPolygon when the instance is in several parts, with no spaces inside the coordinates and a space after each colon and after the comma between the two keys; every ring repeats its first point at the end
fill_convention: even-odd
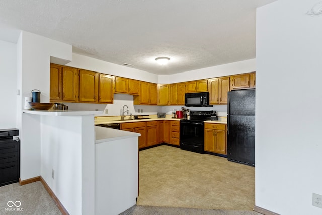
{"type": "Polygon", "coordinates": [[[98,73],[79,70],[79,101],[98,102],[98,78],[98,73]]]}

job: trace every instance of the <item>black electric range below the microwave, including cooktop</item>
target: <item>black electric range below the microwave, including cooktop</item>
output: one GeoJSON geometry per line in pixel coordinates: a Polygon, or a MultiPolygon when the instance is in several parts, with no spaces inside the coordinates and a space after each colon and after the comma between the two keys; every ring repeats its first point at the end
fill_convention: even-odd
{"type": "Polygon", "coordinates": [[[190,119],[180,120],[180,149],[204,153],[204,121],[218,120],[216,111],[190,111],[190,119]]]}

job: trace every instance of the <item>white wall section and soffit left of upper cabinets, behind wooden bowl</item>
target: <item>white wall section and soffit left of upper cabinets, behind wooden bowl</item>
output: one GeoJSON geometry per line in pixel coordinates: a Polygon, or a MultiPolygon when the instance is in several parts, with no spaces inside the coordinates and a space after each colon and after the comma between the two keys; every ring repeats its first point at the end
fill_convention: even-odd
{"type": "Polygon", "coordinates": [[[22,113],[24,97],[31,91],[41,91],[41,102],[49,102],[50,56],[71,60],[72,47],[55,40],[23,31],[17,42],[17,82],[20,89],[17,102],[18,128],[21,139],[20,178],[40,176],[40,117],[22,113]]]}

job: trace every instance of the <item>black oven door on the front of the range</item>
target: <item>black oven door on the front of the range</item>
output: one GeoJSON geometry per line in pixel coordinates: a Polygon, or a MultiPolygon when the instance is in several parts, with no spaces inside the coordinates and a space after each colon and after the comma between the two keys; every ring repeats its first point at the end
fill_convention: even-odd
{"type": "Polygon", "coordinates": [[[204,153],[203,121],[180,121],[180,148],[192,152],[204,153]]]}

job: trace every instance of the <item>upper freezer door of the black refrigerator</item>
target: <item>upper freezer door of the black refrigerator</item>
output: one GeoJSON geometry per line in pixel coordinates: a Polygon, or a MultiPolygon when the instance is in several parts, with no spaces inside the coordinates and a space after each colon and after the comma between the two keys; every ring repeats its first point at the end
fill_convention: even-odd
{"type": "Polygon", "coordinates": [[[228,92],[228,115],[255,115],[255,89],[228,92]]]}

